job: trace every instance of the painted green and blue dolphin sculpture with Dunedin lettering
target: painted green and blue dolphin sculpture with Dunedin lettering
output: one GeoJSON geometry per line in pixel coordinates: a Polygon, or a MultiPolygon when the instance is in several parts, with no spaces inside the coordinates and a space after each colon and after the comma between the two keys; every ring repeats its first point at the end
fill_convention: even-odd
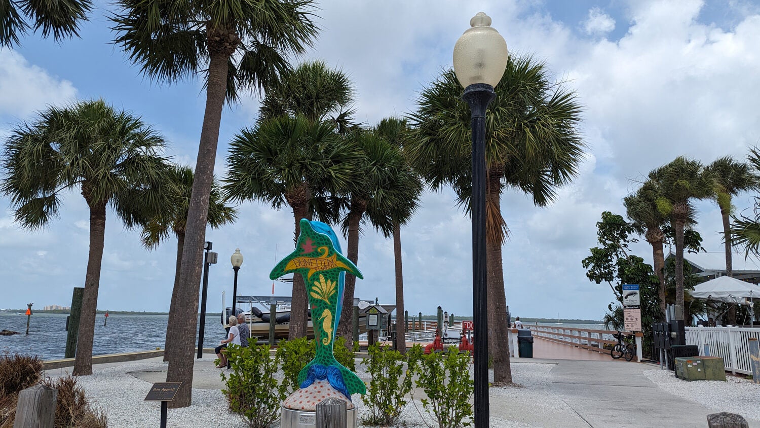
{"type": "Polygon", "coordinates": [[[269,274],[275,280],[284,274],[301,274],[309,295],[316,340],[314,360],[298,375],[301,388],[315,380],[327,379],[330,385],[349,400],[351,394],[365,394],[366,386],[359,376],[335,360],[333,344],[343,306],[346,272],[363,279],[356,265],[340,254],[340,243],[330,226],[321,221],[300,222],[296,251],[283,258],[269,274]]]}

